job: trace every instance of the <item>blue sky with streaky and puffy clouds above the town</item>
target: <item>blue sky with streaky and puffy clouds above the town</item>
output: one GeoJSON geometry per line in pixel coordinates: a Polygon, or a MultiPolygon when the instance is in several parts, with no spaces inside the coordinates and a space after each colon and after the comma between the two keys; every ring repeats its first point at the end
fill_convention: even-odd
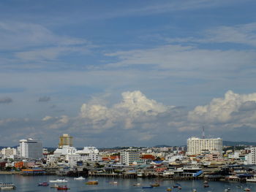
{"type": "Polygon", "coordinates": [[[256,142],[256,1],[0,1],[2,146],[256,142]]]}

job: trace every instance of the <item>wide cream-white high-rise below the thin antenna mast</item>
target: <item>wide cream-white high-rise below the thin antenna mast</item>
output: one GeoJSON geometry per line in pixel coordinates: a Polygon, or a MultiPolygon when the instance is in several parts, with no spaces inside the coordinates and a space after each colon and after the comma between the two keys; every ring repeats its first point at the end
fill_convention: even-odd
{"type": "Polygon", "coordinates": [[[187,154],[198,155],[201,153],[222,153],[223,142],[221,138],[217,139],[200,139],[190,137],[187,139],[187,154]]]}

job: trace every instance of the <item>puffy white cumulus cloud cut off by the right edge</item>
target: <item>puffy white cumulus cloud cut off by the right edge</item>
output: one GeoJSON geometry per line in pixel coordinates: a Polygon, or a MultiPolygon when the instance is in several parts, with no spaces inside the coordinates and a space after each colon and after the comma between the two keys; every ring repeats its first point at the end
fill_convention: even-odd
{"type": "Polygon", "coordinates": [[[247,95],[227,91],[224,98],[213,99],[210,104],[197,106],[189,112],[189,120],[197,122],[227,123],[239,110],[255,109],[256,93],[247,95]],[[234,115],[233,115],[234,114],[234,115]]]}

